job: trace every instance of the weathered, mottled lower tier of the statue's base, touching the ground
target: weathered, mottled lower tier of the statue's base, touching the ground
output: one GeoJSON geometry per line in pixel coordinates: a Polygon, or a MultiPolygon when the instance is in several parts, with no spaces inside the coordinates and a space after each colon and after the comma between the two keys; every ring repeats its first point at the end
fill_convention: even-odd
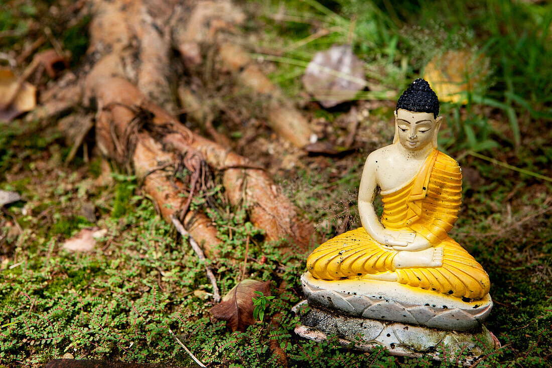
{"type": "Polygon", "coordinates": [[[484,326],[473,332],[455,332],[383,320],[358,318],[327,312],[310,307],[306,301],[293,307],[299,313],[302,325],[295,328],[301,337],[325,341],[331,335],[339,344],[370,351],[383,346],[392,355],[420,357],[429,355],[436,360],[458,361],[463,365],[473,364],[484,354],[476,341],[486,348],[498,349],[500,343],[484,326]]]}

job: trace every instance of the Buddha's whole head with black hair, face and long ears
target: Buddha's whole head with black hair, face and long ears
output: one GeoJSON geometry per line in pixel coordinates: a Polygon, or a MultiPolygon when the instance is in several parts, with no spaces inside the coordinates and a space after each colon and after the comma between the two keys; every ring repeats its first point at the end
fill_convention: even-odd
{"type": "Polygon", "coordinates": [[[395,138],[404,148],[418,150],[431,144],[437,147],[437,134],[442,117],[439,99],[429,83],[417,79],[401,94],[395,110],[395,138]]]}

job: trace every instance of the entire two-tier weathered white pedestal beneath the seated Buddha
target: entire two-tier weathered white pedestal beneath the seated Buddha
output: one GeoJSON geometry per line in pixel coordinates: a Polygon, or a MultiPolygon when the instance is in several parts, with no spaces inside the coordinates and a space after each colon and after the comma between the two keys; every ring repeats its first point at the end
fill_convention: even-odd
{"type": "Polygon", "coordinates": [[[377,280],[317,280],[301,276],[307,301],[293,309],[301,337],[323,341],[336,335],[342,345],[369,351],[384,346],[393,355],[456,360],[471,365],[485,348],[500,343],[482,322],[491,297],[462,301],[432,291],[377,280]],[[304,307],[308,307],[305,308],[304,307]]]}

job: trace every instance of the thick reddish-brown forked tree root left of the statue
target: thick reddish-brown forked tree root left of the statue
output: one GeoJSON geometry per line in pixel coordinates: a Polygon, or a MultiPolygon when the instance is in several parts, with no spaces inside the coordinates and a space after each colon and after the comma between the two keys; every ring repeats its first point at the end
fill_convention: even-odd
{"type": "MultiPolygon", "coordinates": [[[[192,34],[188,42],[197,39],[186,28],[185,19],[203,3],[232,8],[229,1],[90,0],[86,72],[75,85],[67,87],[72,95],[66,96],[62,89],[49,99],[53,106],[49,113],[78,106],[77,98],[85,108],[95,109],[95,139],[101,153],[136,172],[164,219],[179,216],[184,208],[180,220],[208,253],[213,254],[213,245],[220,243],[215,228],[203,212],[188,211],[189,201],[183,201],[182,196],[187,192],[184,183],[159,169],[167,169],[170,162],[182,163],[182,157],[190,155],[221,175],[229,202],[246,206],[252,223],[264,229],[269,240],[287,238],[291,248],[303,253],[314,228],[299,218],[295,206],[266,172],[225,146],[195,134],[167,112],[177,111],[169,85],[174,77],[171,66],[175,65],[170,55],[176,40],[183,39],[173,34],[187,29],[192,34]],[[68,101],[65,105],[56,104],[63,99],[68,101]]],[[[218,28],[225,27],[222,18],[229,17],[219,13],[217,17],[222,20],[217,23],[213,14],[209,16],[218,28]]],[[[197,23],[188,20],[188,25],[197,23]]],[[[199,25],[196,36],[205,29],[203,23],[199,25]]],[[[182,43],[177,48],[182,52],[182,43]]],[[[174,71],[178,72],[178,64],[174,71]]],[[[193,190],[189,190],[190,195],[193,190]]]]}

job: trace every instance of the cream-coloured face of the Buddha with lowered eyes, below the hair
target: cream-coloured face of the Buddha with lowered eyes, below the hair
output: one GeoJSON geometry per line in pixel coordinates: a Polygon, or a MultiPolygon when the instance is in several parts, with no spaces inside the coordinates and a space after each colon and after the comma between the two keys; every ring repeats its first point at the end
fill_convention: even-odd
{"type": "Polygon", "coordinates": [[[399,109],[395,113],[397,134],[401,145],[412,151],[431,145],[434,136],[437,136],[440,117],[437,120],[432,113],[412,112],[399,109]]]}

